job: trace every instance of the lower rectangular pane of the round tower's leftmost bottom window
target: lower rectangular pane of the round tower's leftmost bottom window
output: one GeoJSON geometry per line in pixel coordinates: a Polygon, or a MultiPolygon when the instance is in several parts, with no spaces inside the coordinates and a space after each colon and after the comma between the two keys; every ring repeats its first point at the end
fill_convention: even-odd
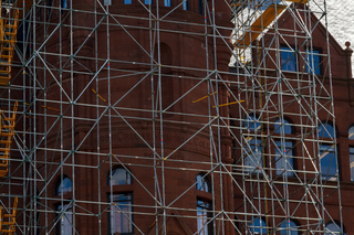
{"type": "Polygon", "coordinates": [[[58,205],[56,217],[60,220],[55,227],[55,234],[58,235],[71,235],[73,233],[73,210],[71,205],[58,205]]]}

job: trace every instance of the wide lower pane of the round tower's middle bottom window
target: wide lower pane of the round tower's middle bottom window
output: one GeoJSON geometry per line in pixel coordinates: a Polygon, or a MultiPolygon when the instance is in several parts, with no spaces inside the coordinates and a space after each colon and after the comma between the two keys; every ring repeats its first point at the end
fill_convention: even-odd
{"type": "Polygon", "coordinates": [[[108,213],[110,234],[133,233],[133,194],[113,194],[110,195],[110,202],[114,202],[108,213]]]}

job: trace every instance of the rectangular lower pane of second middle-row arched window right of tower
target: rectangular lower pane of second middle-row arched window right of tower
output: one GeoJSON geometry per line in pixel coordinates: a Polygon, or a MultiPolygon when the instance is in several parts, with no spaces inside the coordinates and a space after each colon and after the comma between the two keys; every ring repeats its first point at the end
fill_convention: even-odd
{"type": "Polygon", "coordinates": [[[288,177],[293,177],[294,172],[294,159],[293,154],[293,143],[292,141],[275,141],[275,168],[277,174],[281,174],[285,171],[288,177]]]}

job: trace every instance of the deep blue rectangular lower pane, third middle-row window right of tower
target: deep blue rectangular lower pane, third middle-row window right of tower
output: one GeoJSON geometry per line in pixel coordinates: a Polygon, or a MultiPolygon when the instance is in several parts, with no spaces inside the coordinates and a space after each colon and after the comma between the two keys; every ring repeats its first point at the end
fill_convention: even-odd
{"type": "Polygon", "coordinates": [[[320,162],[321,173],[323,180],[336,181],[336,154],[334,146],[321,145],[320,146],[320,162]]]}

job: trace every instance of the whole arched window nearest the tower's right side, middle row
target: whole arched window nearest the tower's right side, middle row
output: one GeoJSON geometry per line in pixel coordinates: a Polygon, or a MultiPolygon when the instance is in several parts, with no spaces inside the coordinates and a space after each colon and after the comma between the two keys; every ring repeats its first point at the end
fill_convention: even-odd
{"type": "Polygon", "coordinates": [[[261,124],[254,116],[248,116],[243,119],[242,126],[246,129],[243,163],[246,167],[249,167],[246,168],[246,171],[253,172],[257,167],[263,167],[262,140],[260,136],[256,135],[261,130],[261,124]]]}

